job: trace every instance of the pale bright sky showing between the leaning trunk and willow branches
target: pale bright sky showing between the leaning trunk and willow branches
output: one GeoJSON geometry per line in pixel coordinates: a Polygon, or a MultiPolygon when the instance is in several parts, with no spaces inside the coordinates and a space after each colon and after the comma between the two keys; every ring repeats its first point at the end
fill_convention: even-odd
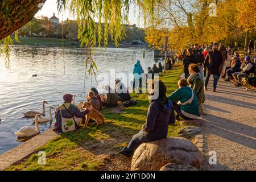
{"type": "MultiPolygon", "coordinates": [[[[55,16],[61,20],[66,20],[68,19],[75,19],[71,15],[69,15],[68,11],[63,13],[63,18],[62,14],[58,14],[57,12],[57,0],[47,0],[46,3],[44,3],[43,7],[41,10],[38,11],[38,13],[35,15],[36,18],[39,16],[47,16],[48,18],[51,18],[53,13],[55,13],[55,16]]],[[[134,6],[132,5],[130,7],[130,14],[129,14],[129,22],[130,24],[137,24],[138,26],[138,10],[135,9],[135,14],[134,14],[134,6]]],[[[139,23],[140,27],[143,27],[143,22],[142,20],[139,23]]]]}

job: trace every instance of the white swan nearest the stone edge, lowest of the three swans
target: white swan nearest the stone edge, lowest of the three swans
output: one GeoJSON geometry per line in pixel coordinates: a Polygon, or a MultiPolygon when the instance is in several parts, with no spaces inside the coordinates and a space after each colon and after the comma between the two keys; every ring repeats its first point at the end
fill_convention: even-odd
{"type": "Polygon", "coordinates": [[[24,126],[19,131],[14,132],[15,135],[18,137],[30,137],[32,135],[38,134],[40,132],[39,126],[38,126],[38,118],[41,118],[39,114],[36,114],[35,116],[35,126],[36,129],[30,126],[24,126]]]}

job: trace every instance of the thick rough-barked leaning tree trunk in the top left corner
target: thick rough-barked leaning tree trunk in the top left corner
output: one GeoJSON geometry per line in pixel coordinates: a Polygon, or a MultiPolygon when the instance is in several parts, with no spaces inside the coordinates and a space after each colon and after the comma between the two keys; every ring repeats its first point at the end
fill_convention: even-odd
{"type": "Polygon", "coordinates": [[[0,40],[30,22],[44,2],[46,0],[7,0],[9,13],[6,17],[5,1],[3,1],[0,7],[0,40]]]}

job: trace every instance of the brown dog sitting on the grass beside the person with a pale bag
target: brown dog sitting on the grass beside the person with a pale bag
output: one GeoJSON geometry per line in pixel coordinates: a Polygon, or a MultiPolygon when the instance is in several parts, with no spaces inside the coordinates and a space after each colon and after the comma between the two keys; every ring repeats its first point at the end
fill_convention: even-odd
{"type": "MultiPolygon", "coordinates": [[[[87,109],[90,106],[89,102],[84,102],[84,105],[82,106],[82,109],[87,109]]],[[[85,115],[86,120],[84,123],[84,127],[87,127],[89,119],[93,119],[98,125],[103,125],[105,123],[104,116],[100,113],[100,111],[97,111],[95,109],[92,109],[89,111],[88,114],[85,115]]]]}

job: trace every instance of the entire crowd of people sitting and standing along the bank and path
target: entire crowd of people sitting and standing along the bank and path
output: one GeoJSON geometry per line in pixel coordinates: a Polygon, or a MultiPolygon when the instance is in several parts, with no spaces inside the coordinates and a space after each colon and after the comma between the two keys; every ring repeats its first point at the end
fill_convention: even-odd
{"type": "MultiPolygon", "coordinates": [[[[166,138],[168,125],[173,125],[176,121],[183,119],[197,119],[203,115],[202,105],[211,75],[213,75],[212,92],[216,92],[217,82],[220,78],[225,78],[225,81],[233,80],[235,86],[242,86],[243,82],[247,81],[251,85],[247,90],[255,90],[255,58],[253,60],[249,55],[255,50],[249,49],[249,53],[242,58],[237,51],[232,53],[229,51],[223,44],[210,43],[209,46],[203,44],[201,47],[199,44],[195,44],[178,54],[176,59],[168,57],[164,61],[164,65],[159,63],[158,67],[156,64],[152,68],[148,67],[147,73],[144,73],[141,62],[138,60],[134,65],[134,80],[131,88],[132,90],[141,88],[143,78],[151,80],[151,84],[147,85],[150,88],[148,89],[150,92],[148,93],[147,119],[142,125],[141,131],[131,138],[127,147],[120,148],[119,152],[128,157],[132,156],[139,144],[166,138]],[[230,54],[233,56],[232,60],[224,69],[230,54]],[[163,72],[163,69],[172,69],[176,60],[183,64],[184,77],[177,82],[179,88],[167,97],[166,85],[161,80],[155,80],[155,75],[163,72]],[[253,74],[254,76],[252,76],[253,74]],[[246,79],[243,80],[243,78],[246,79]],[[153,97],[155,92],[158,92],[157,98],[153,97]]],[[[109,85],[104,85],[104,90],[105,94],[100,95],[96,88],[90,89],[86,100],[90,102],[91,107],[83,111],[72,104],[73,96],[66,94],[63,97],[65,107],[60,105],[55,111],[55,131],[61,132],[63,118],[79,117],[84,122],[85,115],[92,109],[101,111],[104,106],[115,107],[120,102],[125,104],[131,100],[129,88],[126,88],[119,78],[115,80],[114,89],[109,85]]]]}

